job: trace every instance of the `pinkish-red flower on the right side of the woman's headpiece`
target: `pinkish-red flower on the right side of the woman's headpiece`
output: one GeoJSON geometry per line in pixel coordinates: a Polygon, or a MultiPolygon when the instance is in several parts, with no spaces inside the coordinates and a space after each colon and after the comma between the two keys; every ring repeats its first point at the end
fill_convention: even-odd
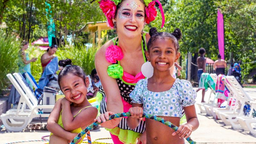
{"type": "Polygon", "coordinates": [[[151,21],[155,20],[156,18],[157,11],[156,11],[155,5],[156,5],[156,1],[152,1],[145,8],[147,24],[149,24],[151,21]]]}

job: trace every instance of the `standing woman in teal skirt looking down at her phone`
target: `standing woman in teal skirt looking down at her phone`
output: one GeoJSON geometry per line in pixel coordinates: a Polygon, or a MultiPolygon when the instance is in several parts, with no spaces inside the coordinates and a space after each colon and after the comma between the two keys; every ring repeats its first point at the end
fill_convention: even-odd
{"type": "Polygon", "coordinates": [[[32,58],[31,60],[29,60],[28,53],[25,52],[25,50],[28,49],[28,44],[29,43],[27,41],[23,41],[21,43],[21,48],[19,51],[19,59],[20,60],[18,62],[18,66],[19,66],[20,73],[28,72],[31,74],[30,62],[35,62],[37,59],[32,58]]]}

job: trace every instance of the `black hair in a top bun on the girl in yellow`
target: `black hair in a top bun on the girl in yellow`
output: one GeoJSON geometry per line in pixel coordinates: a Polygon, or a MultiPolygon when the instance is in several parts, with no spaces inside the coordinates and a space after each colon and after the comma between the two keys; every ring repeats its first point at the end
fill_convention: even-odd
{"type": "MultiPolygon", "coordinates": [[[[60,71],[58,75],[58,84],[60,86],[60,80],[63,76],[66,76],[67,74],[73,74],[76,76],[79,76],[83,78],[85,81],[86,75],[84,73],[84,70],[76,65],[72,65],[72,60],[71,59],[66,59],[66,60],[60,60],[59,61],[59,66],[63,67],[63,69],[60,71]]],[[[61,90],[61,87],[60,87],[61,90]]]]}

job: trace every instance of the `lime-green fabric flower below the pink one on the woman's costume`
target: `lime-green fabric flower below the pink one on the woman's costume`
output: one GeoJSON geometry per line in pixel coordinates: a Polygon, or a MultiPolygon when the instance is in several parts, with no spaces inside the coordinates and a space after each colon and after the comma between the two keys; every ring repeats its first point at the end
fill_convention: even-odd
{"type": "Polygon", "coordinates": [[[108,66],[108,76],[113,78],[121,78],[124,75],[124,69],[119,64],[108,66]]]}

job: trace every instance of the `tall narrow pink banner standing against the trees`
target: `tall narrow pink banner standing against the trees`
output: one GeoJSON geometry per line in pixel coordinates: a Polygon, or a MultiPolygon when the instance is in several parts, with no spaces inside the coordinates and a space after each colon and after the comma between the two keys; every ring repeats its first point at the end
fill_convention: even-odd
{"type": "Polygon", "coordinates": [[[224,21],[223,21],[223,15],[220,12],[220,10],[218,10],[217,33],[218,33],[218,45],[219,45],[219,52],[221,55],[221,59],[225,60],[225,57],[224,57],[224,21]]]}

